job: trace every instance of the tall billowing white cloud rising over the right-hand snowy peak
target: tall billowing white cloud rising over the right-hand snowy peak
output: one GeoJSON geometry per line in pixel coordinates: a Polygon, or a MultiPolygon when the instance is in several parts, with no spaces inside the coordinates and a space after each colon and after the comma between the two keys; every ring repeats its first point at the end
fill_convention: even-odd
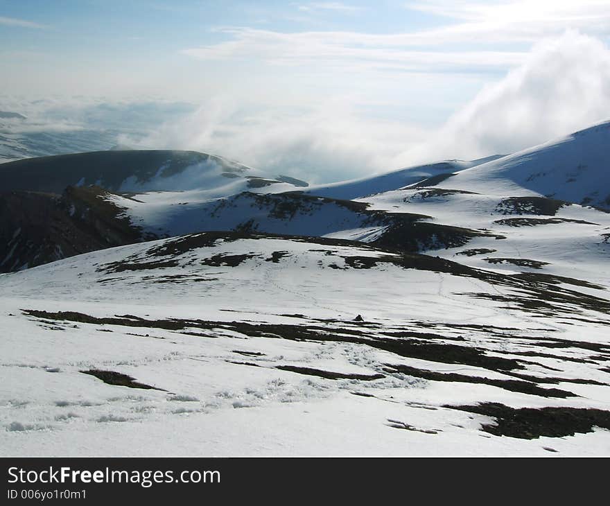
{"type": "Polygon", "coordinates": [[[404,160],[522,150],[610,119],[610,49],[574,31],[540,42],[519,68],[483,89],[435,140],[404,160]]]}

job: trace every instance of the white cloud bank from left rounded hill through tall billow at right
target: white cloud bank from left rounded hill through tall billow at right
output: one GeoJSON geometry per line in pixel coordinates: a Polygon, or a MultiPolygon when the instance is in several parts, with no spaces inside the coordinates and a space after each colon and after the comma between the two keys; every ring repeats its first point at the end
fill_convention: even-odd
{"type": "Polygon", "coordinates": [[[371,119],[349,102],[308,107],[249,110],[216,97],[139,145],[214,152],[311,182],[505,154],[610,119],[610,50],[575,31],[543,40],[439,128],[371,119]]]}

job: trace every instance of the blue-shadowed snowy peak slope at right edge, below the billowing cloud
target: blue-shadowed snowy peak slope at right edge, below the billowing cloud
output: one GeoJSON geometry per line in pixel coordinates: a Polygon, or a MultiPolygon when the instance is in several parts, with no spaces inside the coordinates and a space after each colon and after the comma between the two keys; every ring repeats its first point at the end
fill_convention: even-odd
{"type": "Polygon", "coordinates": [[[488,195],[546,195],[610,209],[609,146],[607,121],[462,171],[435,186],[488,195]]]}

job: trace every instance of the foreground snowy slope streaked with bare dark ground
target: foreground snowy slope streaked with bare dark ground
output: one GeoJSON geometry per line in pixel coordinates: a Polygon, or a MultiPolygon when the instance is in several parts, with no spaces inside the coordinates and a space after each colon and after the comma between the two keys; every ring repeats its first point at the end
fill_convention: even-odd
{"type": "Polygon", "coordinates": [[[0,447],[607,455],[610,297],[574,283],[220,233],[3,274],[0,447]]]}

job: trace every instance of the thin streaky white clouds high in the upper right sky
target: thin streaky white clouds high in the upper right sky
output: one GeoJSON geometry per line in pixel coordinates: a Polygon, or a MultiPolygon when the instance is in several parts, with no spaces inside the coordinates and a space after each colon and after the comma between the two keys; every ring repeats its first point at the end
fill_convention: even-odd
{"type": "MultiPolygon", "coordinates": [[[[352,9],[343,3],[307,3],[301,10],[352,9]]],[[[523,62],[516,43],[532,44],[577,29],[610,35],[610,0],[517,0],[500,3],[434,0],[407,4],[447,19],[436,28],[406,33],[218,28],[229,40],[181,51],[199,60],[257,61],[316,69],[472,72],[506,70],[523,62]],[[462,44],[462,49],[460,48],[462,44]],[[463,49],[474,44],[476,49],[463,49]],[[495,44],[495,46],[494,46],[495,44]],[[497,44],[509,44],[498,46],[497,44]],[[507,49],[507,47],[511,49],[507,49]],[[491,48],[491,49],[490,49],[491,48]]]]}

